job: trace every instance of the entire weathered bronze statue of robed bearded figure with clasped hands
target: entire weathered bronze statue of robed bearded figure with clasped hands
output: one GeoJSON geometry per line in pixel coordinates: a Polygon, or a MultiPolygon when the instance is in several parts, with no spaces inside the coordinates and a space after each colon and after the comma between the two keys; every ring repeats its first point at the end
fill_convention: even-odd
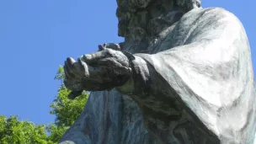
{"type": "Polygon", "coordinates": [[[253,66],[241,22],[200,0],[117,0],[125,42],[65,61],[74,99],[61,144],[253,144],[253,66]]]}

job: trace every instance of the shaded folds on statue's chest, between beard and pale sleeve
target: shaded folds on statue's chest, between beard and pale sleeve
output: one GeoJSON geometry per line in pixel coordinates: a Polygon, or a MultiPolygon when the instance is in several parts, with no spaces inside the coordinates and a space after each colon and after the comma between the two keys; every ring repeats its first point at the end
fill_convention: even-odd
{"type": "Polygon", "coordinates": [[[131,42],[125,42],[125,51],[131,53],[147,53],[156,54],[160,51],[167,51],[174,47],[186,45],[191,43],[192,32],[197,27],[200,21],[200,17],[203,13],[199,12],[200,9],[195,9],[186,13],[182,19],[177,23],[163,29],[155,39],[141,41],[141,43],[135,44],[131,42]]]}

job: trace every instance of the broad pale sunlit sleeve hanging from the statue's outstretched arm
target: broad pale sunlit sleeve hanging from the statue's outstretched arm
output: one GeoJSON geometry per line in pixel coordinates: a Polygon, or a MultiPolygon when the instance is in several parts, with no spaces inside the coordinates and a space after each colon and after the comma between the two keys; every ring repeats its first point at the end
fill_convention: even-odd
{"type": "Polygon", "coordinates": [[[222,139],[253,137],[253,68],[243,25],[232,13],[215,8],[190,26],[184,45],[135,55],[134,74],[142,81],[134,83],[173,89],[189,114],[222,139]],[[168,86],[154,83],[159,78],[168,86]]]}

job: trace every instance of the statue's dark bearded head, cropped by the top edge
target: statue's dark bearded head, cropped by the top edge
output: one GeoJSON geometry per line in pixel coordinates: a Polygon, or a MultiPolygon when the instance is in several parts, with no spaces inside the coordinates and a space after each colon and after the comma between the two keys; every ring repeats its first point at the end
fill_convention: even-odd
{"type": "MultiPolygon", "coordinates": [[[[131,30],[138,35],[147,33],[151,21],[176,11],[187,13],[200,7],[200,0],[117,0],[116,16],[119,19],[119,35],[127,36],[131,30]]],[[[145,35],[145,34],[144,34],[145,35]]]]}

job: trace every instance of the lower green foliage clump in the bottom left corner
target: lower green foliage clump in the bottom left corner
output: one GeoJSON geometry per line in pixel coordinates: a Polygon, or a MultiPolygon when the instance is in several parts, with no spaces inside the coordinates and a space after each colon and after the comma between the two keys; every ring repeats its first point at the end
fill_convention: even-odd
{"type": "Polygon", "coordinates": [[[45,125],[34,125],[29,121],[19,121],[17,115],[6,118],[0,116],[1,144],[52,144],[45,132],[45,125]]]}

